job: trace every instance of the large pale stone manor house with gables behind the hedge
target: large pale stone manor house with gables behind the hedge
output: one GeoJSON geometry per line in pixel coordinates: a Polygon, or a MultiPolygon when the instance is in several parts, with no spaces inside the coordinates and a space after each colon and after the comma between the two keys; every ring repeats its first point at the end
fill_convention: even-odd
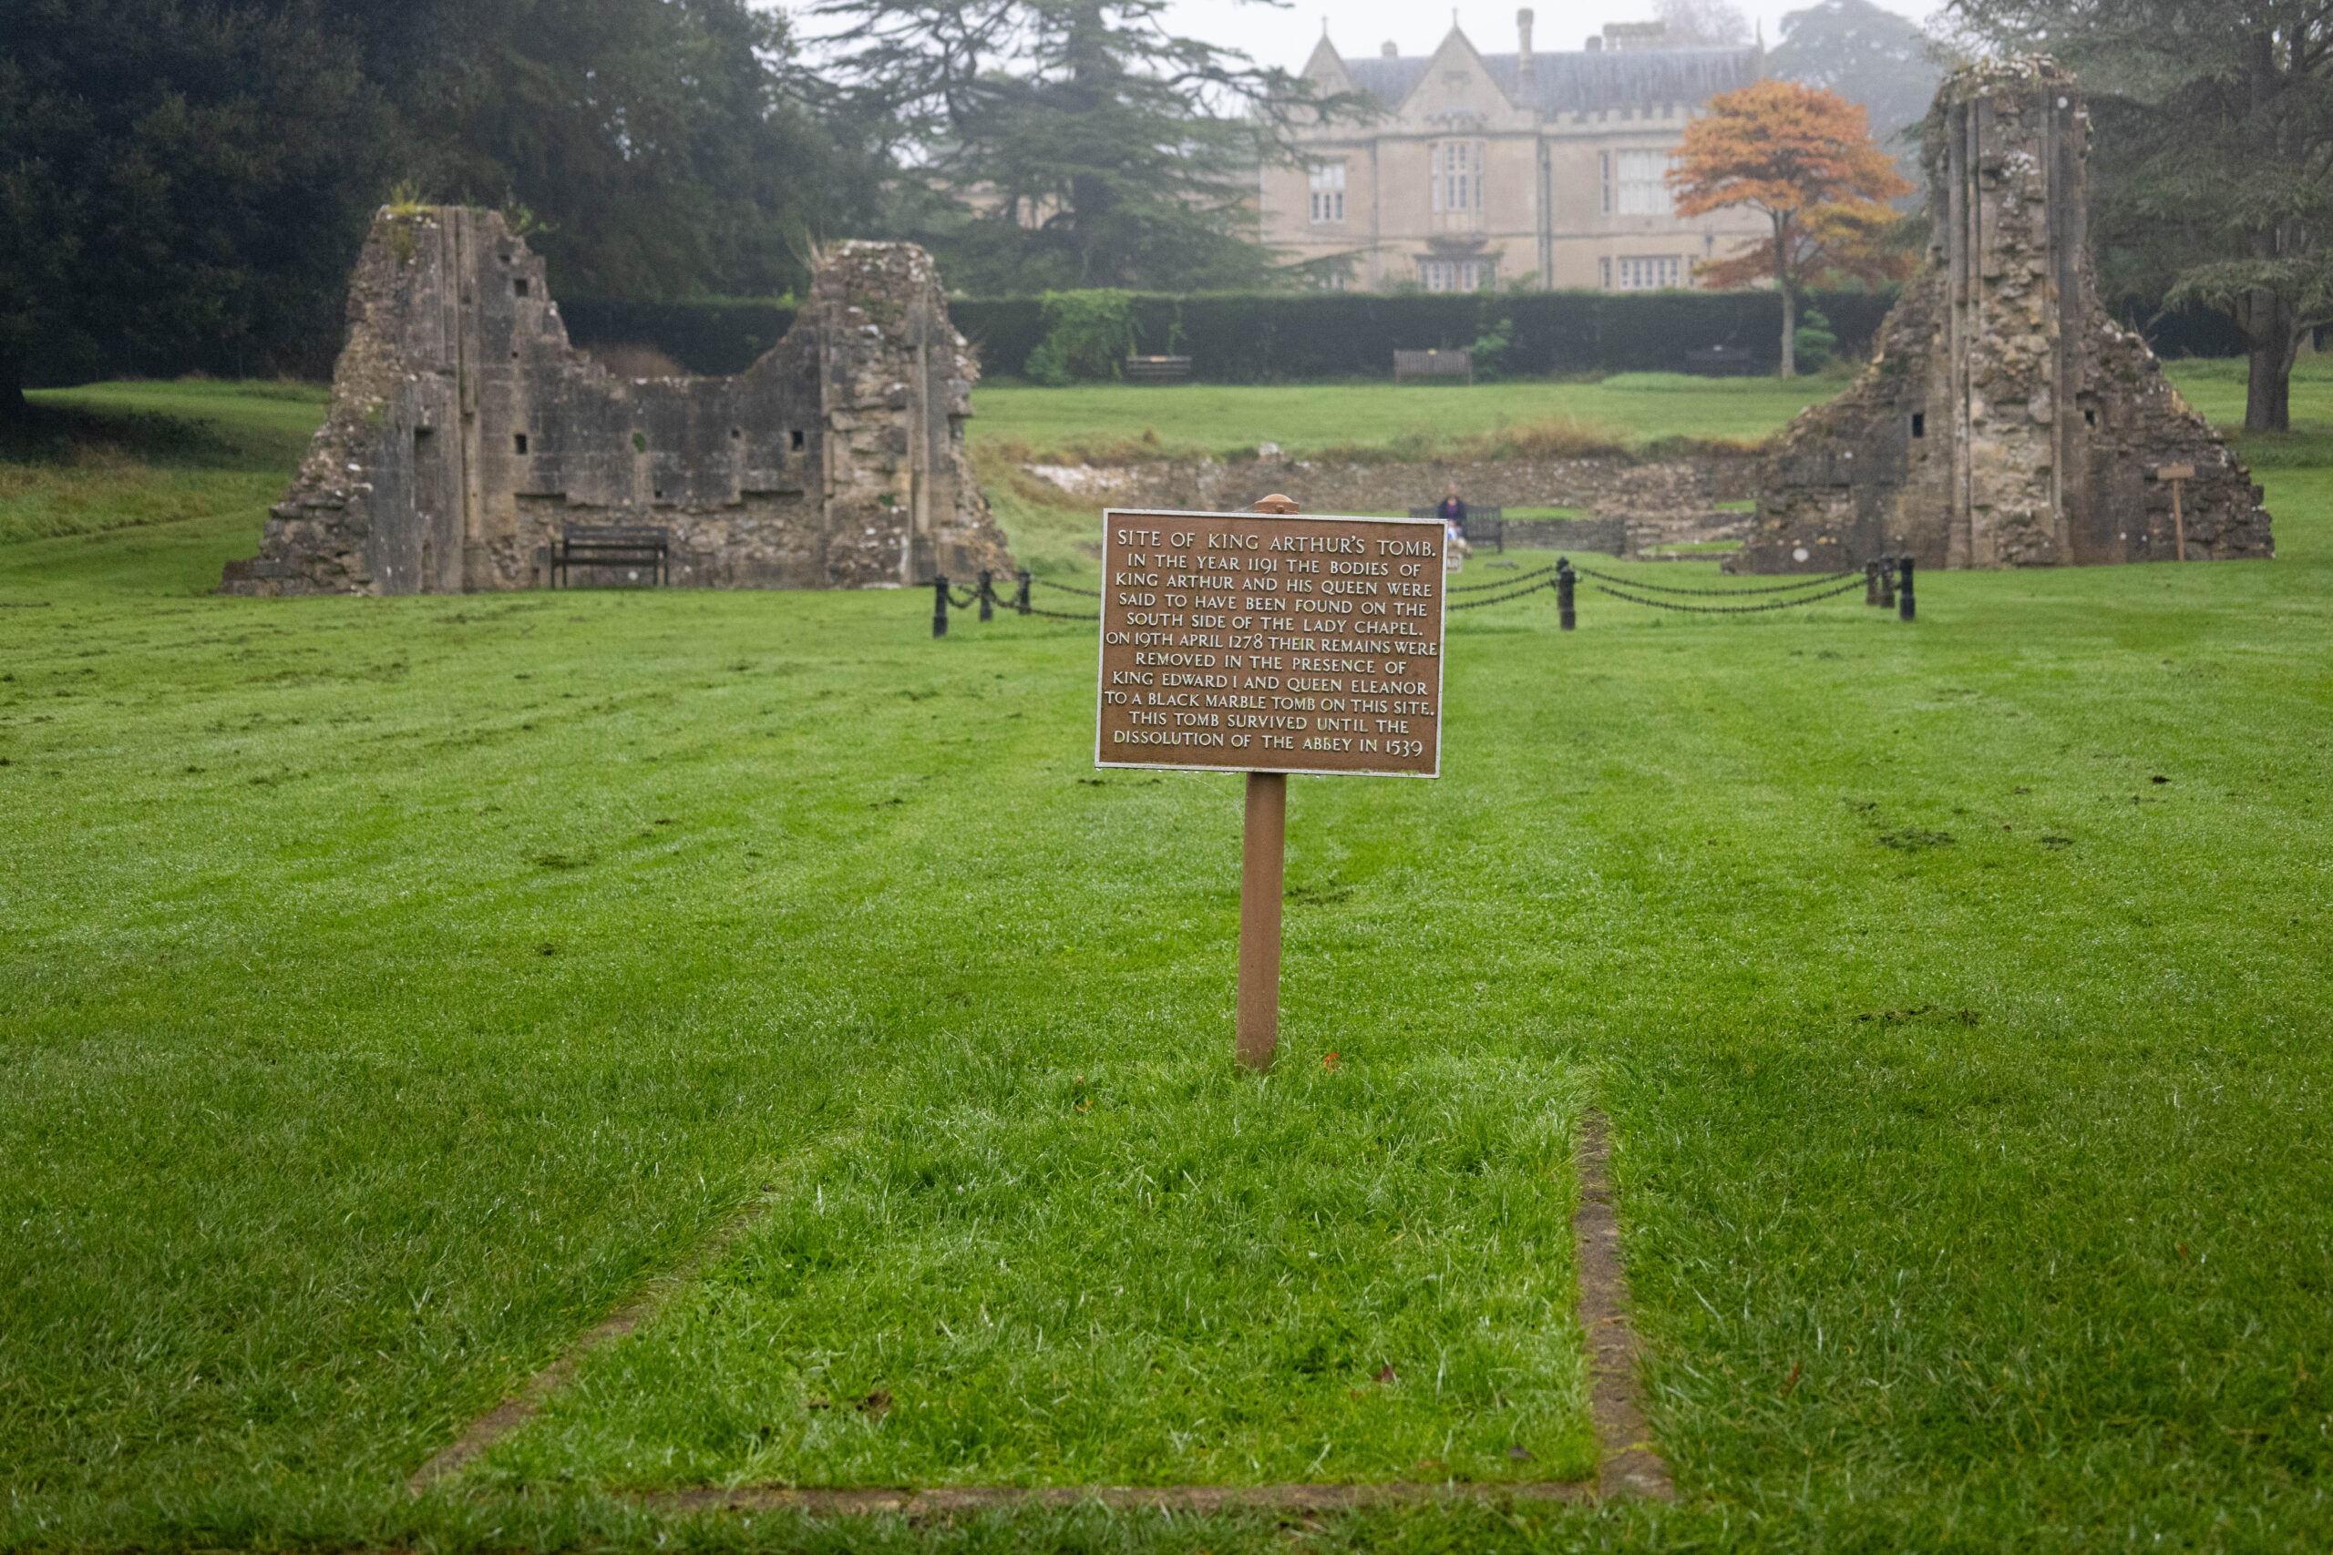
{"type": "Polygon", "coordinates": [[[1388,42],[1344,58],[1323,33],[1304,75],[1365,93],[1376,119],[1304,138],[1306,166],[1262,175],[1262,235],[1327,284],[1649,291],[1766,235],[1754,210],[1675,214],[1670,159],[1703,105],[1764,72],[1764,49],[1668,49],[1661,23],[1612,23],[1584,49],[1481,54],[1456,26],[1425,58],[1388,42]]]}

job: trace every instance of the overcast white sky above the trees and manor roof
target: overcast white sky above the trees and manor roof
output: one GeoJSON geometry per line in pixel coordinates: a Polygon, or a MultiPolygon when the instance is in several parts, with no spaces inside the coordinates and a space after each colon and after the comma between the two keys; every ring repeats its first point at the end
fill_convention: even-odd
{"type": "MultiPolygon", "coordinates": [[[[1796,12],[1808,0],[1736,0],[1750,21],[1766,23],[1766,42],[1780,42],[1782,16],[1796,12]]],[[[1927,19],[1941,9],[1941,0],[1878,0],[1892,12],[1927,19]]],[[[1285,65],[1295,70],[1311,54],[1320,37],[1320,19],[1327,16],[1327,33],[1337,51],[1346,58],[1376,54],[1388,37],[1402,54],[1428,54],[1449,33],[1451,9],[1458,26],[1484,54],[1514,51],[1514,12],[1519,0],[1463,0],[1458,7],[1435,5],[1435,0],[1295,0],[1295,5],[1241,5],[1239,0],[1176,0],[1171,28],[1185,37],[1204,37],[1213,44],[1243,49],[1260,65],[1285,65]]],[[[1535,0],[1537,16],[1533,47],[1577,49],[1589,33],[1600,33],[1607,21],[1649,21],[1652,0],[1535,0]]]]}

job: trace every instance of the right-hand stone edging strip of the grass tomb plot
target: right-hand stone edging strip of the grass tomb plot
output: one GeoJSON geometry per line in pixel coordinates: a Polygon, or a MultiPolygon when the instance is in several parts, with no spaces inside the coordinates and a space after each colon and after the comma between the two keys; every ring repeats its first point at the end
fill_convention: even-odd
{"type": "Polygon", "coordinates": [[[1572,1240],[1579,1257],[1579,1327],[1589,1336],[1596,1494],[1605,1501],[1673,1501],[1677,1487],[1652,1445],[1652,1427],[1645,1424],[1635,1327],[1628,1322],[1628,1273],[1619,1261],[1619,1215],[1612,1210],[1612,1131],[1596,1107],[1579,1117],[1579,1210],[1572,1215],[1572,1240]]]}

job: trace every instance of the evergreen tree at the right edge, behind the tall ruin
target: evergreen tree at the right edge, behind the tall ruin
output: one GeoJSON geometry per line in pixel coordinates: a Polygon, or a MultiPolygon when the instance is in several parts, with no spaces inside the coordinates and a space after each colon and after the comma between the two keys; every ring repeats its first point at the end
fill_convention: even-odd
{"type": "Polygon", "coordinates": [[[2333,324],[2333,7],[2324,0],[1955,0],[2006,49],[2048,49],[2100,105],[2116,226],[2244,338],[2247,431],[2291,427],[2300,340],[2333,324]]]}

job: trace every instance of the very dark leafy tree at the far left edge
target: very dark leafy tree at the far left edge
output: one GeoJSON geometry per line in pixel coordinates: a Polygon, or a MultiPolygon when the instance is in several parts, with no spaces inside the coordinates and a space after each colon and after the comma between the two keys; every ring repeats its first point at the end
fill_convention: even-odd
{"type": "Polygon", "coordinates": [[[313,0],[0,0],[0,413],[23,373],[331,338],[387,114],[313,0]]]}

